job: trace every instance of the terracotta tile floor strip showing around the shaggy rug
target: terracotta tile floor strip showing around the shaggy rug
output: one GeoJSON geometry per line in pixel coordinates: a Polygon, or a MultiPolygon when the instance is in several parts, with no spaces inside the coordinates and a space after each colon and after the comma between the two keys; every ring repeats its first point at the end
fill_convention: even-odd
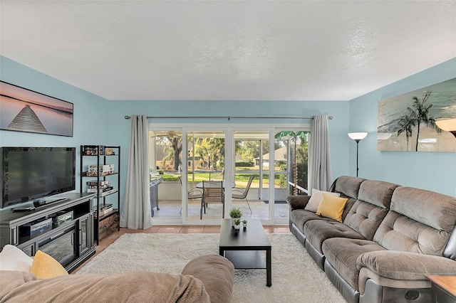
{"type": "MultiPolygon", "coordinates": [[[[266,233],[290,233],[289,225],[265,225],[263,226],[264,231],[266,233]]],[[[99,245],[95,246],[95,255],[98,255],[100,252],[105,250],[109,245],[114,243],[120,235],[124,233],[220,233],[220,226],[219,225],[153,225],[151,228],[146,230],[129,230],[127,228],[120,228],[119,231],[108,235],[108,237],[100,240],[99,245]]],[[[77,272],[79,268],[86,265],[93,257],[90,257],[89,260],[84,262],[81,266],[79,266],[76,270],[72,273],[77,272]]]]}

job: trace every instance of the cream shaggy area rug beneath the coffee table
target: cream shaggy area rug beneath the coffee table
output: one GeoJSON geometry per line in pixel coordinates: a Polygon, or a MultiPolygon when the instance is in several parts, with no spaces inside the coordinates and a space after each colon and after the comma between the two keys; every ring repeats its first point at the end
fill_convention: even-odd
{"type": "MultiPolygon", "coordinates": [[[[266,270],[236,270],[232,302],[345,302],[294,235],[268,237],[272,286],[266,287],[266,270]]],[[[180,274],[193,258],[218,255],[218,243],[219,234],[124,234],[76,275],[141,270],[180,274]]]]}

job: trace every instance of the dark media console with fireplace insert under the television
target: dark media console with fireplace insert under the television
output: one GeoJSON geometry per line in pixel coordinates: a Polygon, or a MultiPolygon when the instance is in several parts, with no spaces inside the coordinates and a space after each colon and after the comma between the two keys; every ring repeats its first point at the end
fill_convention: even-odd
{"type": "Polygon", "coordinates": [[[0,248],[6,244],[16,245],[31,257],[41,250],[71,272],[95,254],[94,196],[94,193],[67,193],[65,200],[38,208],[33,209],[33,203],[25,204],[22,208],[31,207],[29,211],[2,209],[0,248]],[[46,220],[51,222],[51,218],[59,214],[67,215],[66,219],[46,225],[46,220]]]}

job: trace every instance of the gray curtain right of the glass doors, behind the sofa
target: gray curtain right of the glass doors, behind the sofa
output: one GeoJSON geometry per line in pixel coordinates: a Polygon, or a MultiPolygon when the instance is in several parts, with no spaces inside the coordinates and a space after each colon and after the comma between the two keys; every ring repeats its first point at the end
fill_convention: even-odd
{"type": "Polygon", "coordinates": [[[309,194],[312,188],[328,191],[331,186],[328,116],[314,116],[309,142],[309,194]]]}

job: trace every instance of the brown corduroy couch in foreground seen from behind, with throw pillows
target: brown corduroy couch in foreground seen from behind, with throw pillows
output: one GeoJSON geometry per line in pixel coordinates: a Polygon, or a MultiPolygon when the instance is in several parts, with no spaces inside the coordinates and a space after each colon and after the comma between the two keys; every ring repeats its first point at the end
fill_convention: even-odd
{"type": "MultiPolygon", "coordinates": [[[[24,254],[16,250],[19,251],[16,254],[24,254]]],[[[49,257],[41,265],[34,264],[36,258],[29,262],[24,257],[22,260],[28,264],[15,270],[16,265],[6,255],[4,251],[0,253],[0,265],[8,269],[0,270],[0,302],[231,302],[234,266],[219,255],[191,260],[180,275],[157,272],[68,275],[55,260],[49,262],[49,257]]],[[[17,262],[17,255],[13,259],[17,262]]]]}

